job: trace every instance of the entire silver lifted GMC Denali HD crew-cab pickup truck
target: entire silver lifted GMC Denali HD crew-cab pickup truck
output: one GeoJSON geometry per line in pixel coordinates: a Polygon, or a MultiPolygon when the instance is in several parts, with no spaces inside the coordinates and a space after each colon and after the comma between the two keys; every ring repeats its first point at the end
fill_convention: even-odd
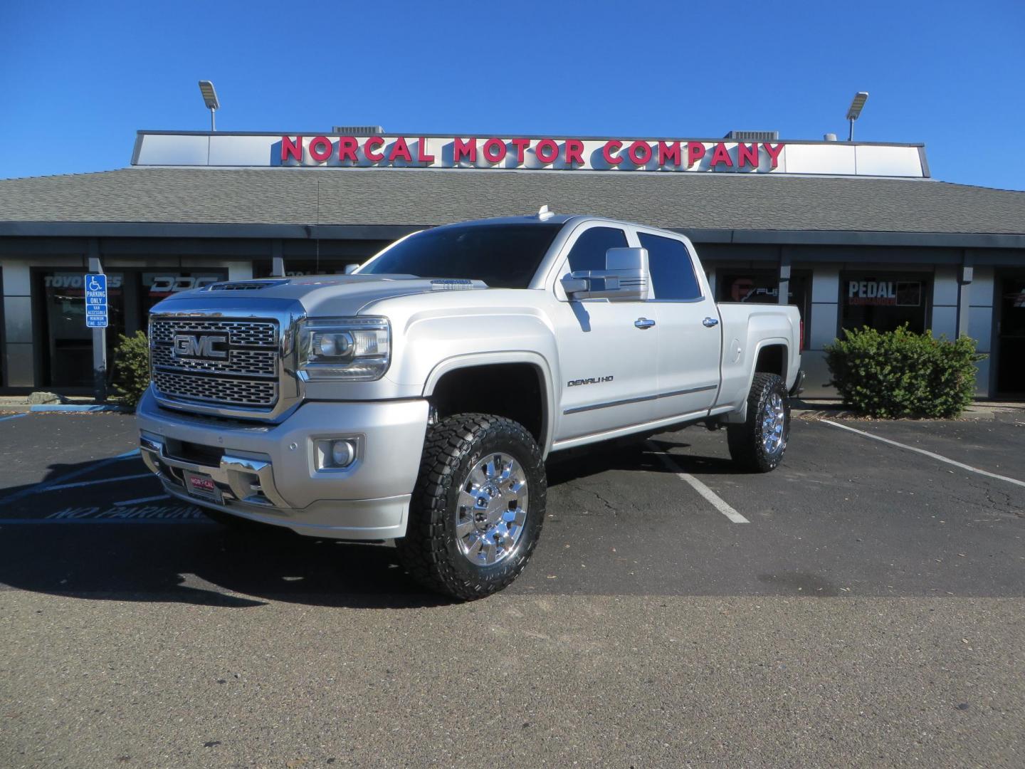
{"type": "Polygon", "coordinates": [[[480,598],[537,544],[550,452],[703,422],[775,468],[799,326],[716,305],[675,233],[546,207],[439,227],[350,275],[161,301],[142,457],[216,520],[395,540],[415,578],[480,598]]]}

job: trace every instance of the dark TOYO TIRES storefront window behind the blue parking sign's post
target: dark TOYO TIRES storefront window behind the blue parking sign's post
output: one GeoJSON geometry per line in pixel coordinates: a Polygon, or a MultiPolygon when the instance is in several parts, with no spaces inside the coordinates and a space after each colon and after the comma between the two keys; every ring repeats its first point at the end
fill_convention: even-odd
{"type": "MultiPolygon", "coordinates": [[[[46,323],[43,381],[53,387],[91,388],[92,329],[85,325],[84,270],[40,273],[46,323]]],[[[124,333],[124,274],[107,274],[107,357],[124,333]]]]}

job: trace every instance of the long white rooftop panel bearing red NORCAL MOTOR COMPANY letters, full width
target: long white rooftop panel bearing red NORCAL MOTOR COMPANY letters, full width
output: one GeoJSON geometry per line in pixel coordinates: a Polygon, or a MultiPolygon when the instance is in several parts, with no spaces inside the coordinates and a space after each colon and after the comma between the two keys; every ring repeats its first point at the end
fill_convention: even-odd
{"type": "Polygon", "coordinates": [[[139,131],[132,165],[928,176],[917,145],[523,136],[139,131]]]}

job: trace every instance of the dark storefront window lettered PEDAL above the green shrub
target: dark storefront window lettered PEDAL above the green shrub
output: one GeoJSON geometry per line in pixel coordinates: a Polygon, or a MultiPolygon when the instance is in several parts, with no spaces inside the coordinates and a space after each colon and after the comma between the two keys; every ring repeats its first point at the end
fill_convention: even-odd
{"type": "Polygon", "coordinates": [[[929,327],[928,275],[848,273],[840,281],[843,327],[893,331],[904,323],[922,333],[929,327]]]}

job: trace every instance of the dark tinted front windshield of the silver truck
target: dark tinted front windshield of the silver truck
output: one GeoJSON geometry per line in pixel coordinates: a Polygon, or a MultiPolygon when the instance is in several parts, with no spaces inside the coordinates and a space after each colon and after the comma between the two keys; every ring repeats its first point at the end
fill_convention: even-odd
{"type": "Polygon", "coordinates": [[[526,288],[562,225],[463,225],[425,230],[388,248],[361,275],[468,278],[526,288]]]}

